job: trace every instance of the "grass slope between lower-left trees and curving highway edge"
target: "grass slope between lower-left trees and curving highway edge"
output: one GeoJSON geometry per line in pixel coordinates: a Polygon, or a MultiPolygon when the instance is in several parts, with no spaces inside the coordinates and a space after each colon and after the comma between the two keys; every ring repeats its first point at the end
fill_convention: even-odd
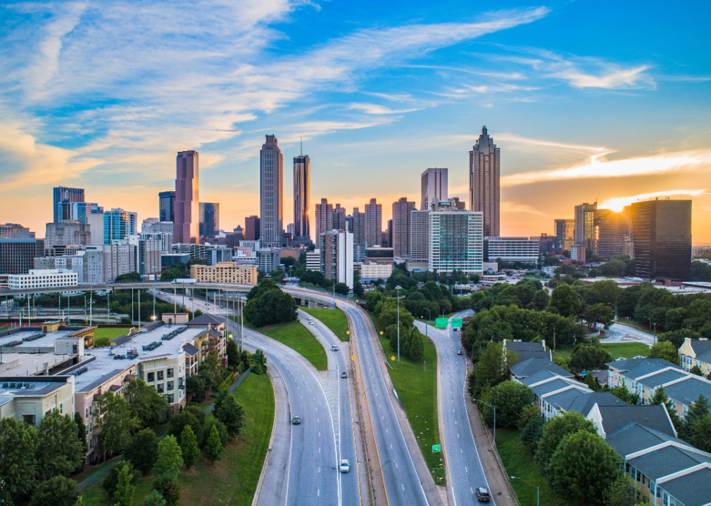
{"type": "MultiPolygon", "coordinates": [[[[181,506],[252,504],[257,482],[267,456],[274,422],[274,392],[267,375],[250,374],[233,394],[245,408],[242,434],[230,441],[222,460],[210,464],[201,458],[189,471],[181,469],[181,506]]],[[[210,419],[212,415],[208,416],[210,419]]],[[[151,492],[153,477],[139,478],[134,505],[139,506],[151,492]]],[[[83,503],[92,506],[112,506],[114,501],[94,485],[83,493],[83,503]]]]}

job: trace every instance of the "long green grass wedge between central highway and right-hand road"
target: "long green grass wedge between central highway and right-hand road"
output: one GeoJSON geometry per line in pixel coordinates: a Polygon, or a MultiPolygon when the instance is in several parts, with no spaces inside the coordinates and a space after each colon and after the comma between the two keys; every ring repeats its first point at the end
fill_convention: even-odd
{"type": "MultiPolygon", "coordinates": [[[[370,315],[373,317],[373,315],[370,315]]],[[[439,423],[437,421],[437,348],[434,343],[428,343],[427,338],[422,335],[424,341],[424,360],[427,361],[427,371],[424,370],[424,363],[409,361],[400,357],[400,364],[397,364],[397,353],[392,353],[390,340],[380,336],[380,324],[373,318],[375,330],[378,332],[380,343],[393,369],[388,368],[392,385],[395,386],[397,396],[400,397],[402,409],[405,409],[407,421],[417,437],[417,444],[427,468],[434,478],[434,483],[444,485],[444,465],[442,453],[432,453],[432,445],[440,444],[439,423]],[[390,358],[395,357],[395,361],[390,358]]]]}

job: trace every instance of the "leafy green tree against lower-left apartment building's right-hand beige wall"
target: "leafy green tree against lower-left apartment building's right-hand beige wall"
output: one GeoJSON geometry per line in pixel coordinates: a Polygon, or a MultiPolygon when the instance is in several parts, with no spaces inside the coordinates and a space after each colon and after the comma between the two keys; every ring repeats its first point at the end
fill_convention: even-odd
{"type": "Polygon", "coordinates": [[[141,422],[132,416],[129,402],[113,392],[105,392],[99,399],[97,427],[99,448],[103,452],[120,451],[129,444],[131,432],[141,422]]]}

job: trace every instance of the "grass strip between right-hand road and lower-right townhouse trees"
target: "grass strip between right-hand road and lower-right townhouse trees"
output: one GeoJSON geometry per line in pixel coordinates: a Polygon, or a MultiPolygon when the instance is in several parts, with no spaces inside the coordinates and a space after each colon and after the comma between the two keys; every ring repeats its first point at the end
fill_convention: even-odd
{"type": "Polygon", "coordinates": [[[540,504],[547,506],[567,506],[567,503],[557,497],[545,479],[538,473],[538,468],[533,462],[533,453],[520,440],[518,431],[496,428],[496,446],[501,456],[506,474],[518,476],[520,480],[511,480],[521,506],[536,505],[536,490],[540,488],[540,504]],[[532,485],[527,485],[523,480],[532,485]]]}

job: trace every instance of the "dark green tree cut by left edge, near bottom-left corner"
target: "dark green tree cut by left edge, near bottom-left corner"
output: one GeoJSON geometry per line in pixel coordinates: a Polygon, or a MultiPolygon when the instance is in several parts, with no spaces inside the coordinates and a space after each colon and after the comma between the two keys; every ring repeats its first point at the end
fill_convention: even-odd
{"type": "Polygon", "coordinates": [[[14,417],[0,419],[0,476],[3,489],[19,500],[37,482],[37,429],[14,417]]]}

